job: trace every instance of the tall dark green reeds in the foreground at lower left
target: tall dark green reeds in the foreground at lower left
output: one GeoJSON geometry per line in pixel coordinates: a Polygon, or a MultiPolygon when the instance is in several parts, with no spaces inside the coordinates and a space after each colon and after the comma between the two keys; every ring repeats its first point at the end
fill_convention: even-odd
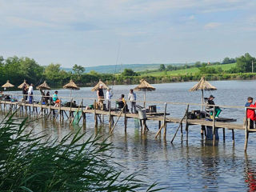
{"type": "Polygon", "coordinates": [[[27,119],[0,122],[0,191],[157,191],[139,173],[124,176],[113,146],[98,135],[82,141],[79,130],[60,142],[26,130],[27,119]]]}

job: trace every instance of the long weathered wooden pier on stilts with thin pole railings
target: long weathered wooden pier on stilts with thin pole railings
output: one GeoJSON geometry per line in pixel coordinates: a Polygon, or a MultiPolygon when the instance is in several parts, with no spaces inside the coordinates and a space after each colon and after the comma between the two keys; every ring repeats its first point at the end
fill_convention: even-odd
{"type": "MultiPolygon", "coordinates": [[[[10,94],[9,94],[10,95],[10,94]]],[[[18,97],[22,96],[21,94],[11,94],[12,97],[18,97]]],[[[35,97],[36,95],[34,95],[35,97]]],[[[37,95],[38,98],[41,98],[41,95],[37,95]]],[[[64,97],[62,97],[65,99],[64,97]]],[[[61,98],[61,99],[62,99],[61,98]]],[[[200,118],[200,119],[189,119],[188,118],[188,112],[190,106],[204,106],[202,104],[197,103],[178,103],[178,102],[146,102],[148,104],[150,103],[158,103],[158,104],[164,104],[164,110],[161,113],[146,113],[146,119],[140,119],[140,116],[138,114],[130,114],[126,113],[125,110],[96,110],[96,100],[94,98],[68,98],[70,102],[72,101],[80,100],[80,104],[78,107],[67,107],[67,106],[50,106],[50,105],[42,105],[42,103],[35,103],[32,104],[27,102],[10,102],[5,100],[0,100],[0,110],[2,111],[16,111],[16,113],[20,114],[32,114],[34,115],[34,118],[46,118],[51,119],[53,121],[68,121],[70,124],[74,123],[74,118],[78,115],[78,112],[80,113],[78,115],[78,121],[75,123],[82,122],[82,124],[86,124],[86,114],[93,114],[94,115],[94,126],[98,127],[98,125],[104,123],[104,116],[108,117],[108,123],[110,132],[114,132],[114,128],[116,127],[119,119],[122,117],[124,119],[124,130],[127,129],[127,119],[128,118],[138,118],[140,120],[140,126],[142,130],[142,134],[146,134],[146,132],[149,130],[149,127],[147,126],[148,121],[154,121],[158,122],[158,132],[155,134],[155,138],[159,137],[163,130],[163,138],[166,139],[166,129],[168,123],[177,123],[178,128],[175,130],[175,134],[171,140],[171,142],[174,142],[174,138],[176,134],[178,134],[178,130],[181,131],[181,134],[183,135],[183,125],[185,126],[186,130],[186,141],[188,141],[189,136],[189,127],[190,126],[201,126],[202,127],[202,136],[203,134],[206,134],[205,127],[211,127],[212,133],[213,133],[213,143],[215,142],[215,133],[216,129],[222,129],[223,131],[223,142],[225,142],[225,130],[231,130],[232,131],[232,139],[234,142],[234,130],[244,130],[245,132],[245,147],[244,150],[247,149],[247,143],[249,134],[256,132],[256,129],[249,129],[250,127],[250,121],[244,120],[244,123],[238,124],[234,122],[222,122],[222,119],[207,119],[207,118],[200,118]],[[83,102],[87,100],[90,100],[91,102],[94,102],[94,109],[88,110],[83,106],[83,102]],[[168,111],[166,111],[166,106],[168,105],[186,105],[186,111],[182,118],[172,118],[170,114],[168,114],[168,111]],[[114,122],[114,118],[115,122],[114,122]]],[[[66,99],[67,100],[67,99],[66,99]]],[[[215,106],[214,106],[215,107],[215,106]]],[[[222,108],[234,108],[234,109],[244,109],[242,106],[220,106],[222,108]]],[[[250,109],[250,107],[248,107],[250,109]]],[[[246,110],[245,110],[246,111],[246,110]]],[[[246,113],[245,113],[245,119],[246,113]]]]}

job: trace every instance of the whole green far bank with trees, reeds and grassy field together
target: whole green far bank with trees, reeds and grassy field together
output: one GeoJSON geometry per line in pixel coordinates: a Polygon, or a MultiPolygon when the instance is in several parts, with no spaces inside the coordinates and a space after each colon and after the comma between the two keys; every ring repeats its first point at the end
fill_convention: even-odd
{"type": "Polygon", "coordinates": [[[125,69],[121,74],[99,74],[95,71],[86,71],[82,66],[75,64],[72,71],[62,70],[60,64],[51,63],[40,66],[32,58],[0,57],[0,85],[10,80],[15,86],[23,79],[35,85],[44,80],[50,86],[63,86],[70,79],[79,86],[93,86],[99,79],[107,84],[138,84],[146,78],[150,83],[197,81],[202,76],[208,80],[251,79],[256,76],[256,59],[246,53],[238,58],[224,58],[222,62],[195,62],[188,65],[164,65],[158,70],[134,71],[125,69]]]}

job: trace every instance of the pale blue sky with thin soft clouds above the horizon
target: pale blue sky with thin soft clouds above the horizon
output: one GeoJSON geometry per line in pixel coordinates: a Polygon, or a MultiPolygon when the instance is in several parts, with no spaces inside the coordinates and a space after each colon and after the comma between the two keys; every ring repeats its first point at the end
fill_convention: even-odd
{"type": "Polygon", "coordinates": [[[0,55],[63,67],[255,56],[254,0],[0,0],[0,55]]]}

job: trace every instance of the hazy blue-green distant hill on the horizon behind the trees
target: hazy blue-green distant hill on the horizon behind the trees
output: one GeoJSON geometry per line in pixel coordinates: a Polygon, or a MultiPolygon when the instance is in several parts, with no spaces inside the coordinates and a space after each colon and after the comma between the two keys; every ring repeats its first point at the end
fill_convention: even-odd
{"type": "MultiPolygon", "coordinates": [[[[179,65],[184,65],[184,63],[170,63],[165,65],[179,66],[179,65]]],[[[89,73],[91,70],[95,70],[96,72],[102,73],[102,74],[114,74],[114,73],[118,74],[118,73],[121,73],[124,69],[132,69],[138,72],[138,71],[144,71],[144,70],[156,70],[159,68],[159,66],[160,64],[119,64],[117,66],[115,65],[87,66],[86,73],[89,73]]],[[[62,67],[62,70],[71,71],[72,69],[62,67]]]]}

